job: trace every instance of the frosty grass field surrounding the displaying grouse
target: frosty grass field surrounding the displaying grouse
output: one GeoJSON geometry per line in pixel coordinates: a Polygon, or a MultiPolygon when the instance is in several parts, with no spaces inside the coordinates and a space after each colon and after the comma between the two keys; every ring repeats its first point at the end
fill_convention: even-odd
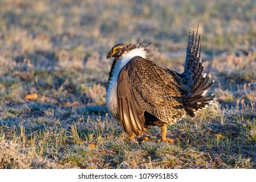
{"type": "Polygon", "coordinates": [[[256,3],[0,1],[0,168],[256,168],[256,3]],[[182,72],[203,36],[216,103],[169,125],[172,144],[127,139],[107,115],[115,44],[152,42],[182,72]]]}

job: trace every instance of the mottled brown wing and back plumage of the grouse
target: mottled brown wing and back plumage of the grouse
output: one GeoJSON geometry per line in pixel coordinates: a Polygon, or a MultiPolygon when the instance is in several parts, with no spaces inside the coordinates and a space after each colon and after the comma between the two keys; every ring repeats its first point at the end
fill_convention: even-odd
{"type": "Polygon", "coordinates": [[[122,127],[128,135],[139,135],[145,123],[144,112],[165,123],[175,122],[183,110],[181,94],[171,70],[150,60],[134,57],[119,73],[117,96],[122,127]]]}

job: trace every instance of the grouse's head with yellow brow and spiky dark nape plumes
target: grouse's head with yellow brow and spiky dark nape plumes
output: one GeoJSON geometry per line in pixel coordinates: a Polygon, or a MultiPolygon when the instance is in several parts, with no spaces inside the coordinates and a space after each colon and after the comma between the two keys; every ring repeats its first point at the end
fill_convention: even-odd
{"type": "Polygon", "coordinates": [[[136,44],[117,44],[114,47],[112,47],[111,51],[107,54],[107,59],[113,57],[115,59],[119,59],[122,57],[122,55],[134,50],[134,49],[139,49],[143,52],[145,52],[145,55],[147,58],[149,58],[149,52],[153,51],[153,49],[148,49],[147,46],[150,43],[147,42],[141,42],[139,43],[139,40],[136,44]]]}

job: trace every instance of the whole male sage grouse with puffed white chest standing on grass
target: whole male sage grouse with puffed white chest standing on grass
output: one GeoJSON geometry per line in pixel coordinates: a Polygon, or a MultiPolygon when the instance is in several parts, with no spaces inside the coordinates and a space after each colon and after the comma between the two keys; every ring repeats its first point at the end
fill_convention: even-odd
{"type": "Polygon", "coordinates": [[[183,73],[154,64],[149,60],[152,49],[148,45],[117,44],[109,51],[107,59],[114,60],[107,83],[107,108],[130,138],[149,133],[150,125],[159,125],[161,141],[168,142],[167,125],[185,113],[193,117],[208,105],[214,95],[206,92],[214,81],[203,73],[201,36],[194,35],[191,27],[183,73]]]}

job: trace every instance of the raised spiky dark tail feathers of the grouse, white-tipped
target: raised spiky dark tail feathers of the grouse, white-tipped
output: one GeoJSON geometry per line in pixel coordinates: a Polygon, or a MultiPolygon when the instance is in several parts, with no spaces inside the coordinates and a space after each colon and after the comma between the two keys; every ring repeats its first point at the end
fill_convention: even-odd
{"type": "Polygon", "coordinates": [[[209,86],[214,83],[210,80],[210,75],[203,73],[204,61],[201,59],[202,38],[194,34],[192,27],[188,36],[188,49],[184,72],[182,73],[183,83],[186,85],[184,96],[184,109],[189,116],[195,116],[194,112],[201,110],[211,103],[215,98],[214,94],[206,95],[209,86]]]}

